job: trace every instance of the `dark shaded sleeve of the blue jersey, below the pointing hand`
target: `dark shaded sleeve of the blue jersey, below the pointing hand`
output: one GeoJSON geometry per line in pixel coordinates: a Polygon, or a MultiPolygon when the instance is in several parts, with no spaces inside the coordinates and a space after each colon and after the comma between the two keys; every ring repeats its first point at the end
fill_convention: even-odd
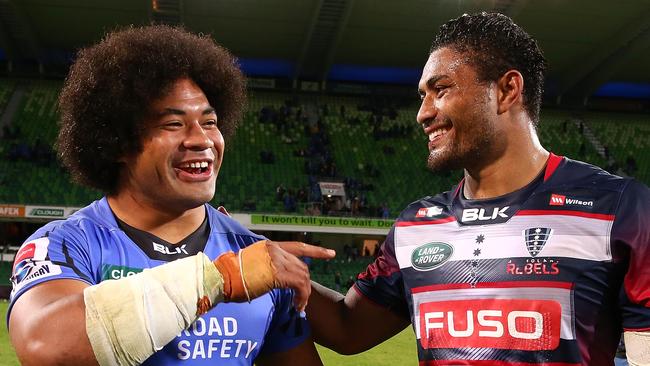
{"type": "Polygon", "coordinates": [[[271,296],[275,309],[261,354],[287,351],[302,344],[311,334],[309,322],[293,307],[293,290],[275,289],[271,296]]]}

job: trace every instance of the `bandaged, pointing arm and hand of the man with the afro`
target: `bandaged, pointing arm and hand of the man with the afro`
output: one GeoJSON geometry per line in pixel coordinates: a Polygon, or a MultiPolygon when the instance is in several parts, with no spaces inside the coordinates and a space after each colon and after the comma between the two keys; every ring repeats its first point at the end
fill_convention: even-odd
{"type": "MultiPolygon", "coordinates": [[[[319,247],[293,245],[315,258],[334,255],[319,247]]],[[[232,256],[229,261],[224,257],[222,262],[229,262],[221,266],[224,272],[216,270],[219,259],[215,266],[198,254],[202,257],[94,286],[77,280],[37,285],[12,308],[9,333],[16,353],[25,365],[88,365],[97,360],[110,364],[116,359],[138,364],[219,301],[244,301],[282,287],[294,289],[298,305],[306,302],[311,289],[304,263],[269,241],[241,253],[237,265],[232,256]]]]}

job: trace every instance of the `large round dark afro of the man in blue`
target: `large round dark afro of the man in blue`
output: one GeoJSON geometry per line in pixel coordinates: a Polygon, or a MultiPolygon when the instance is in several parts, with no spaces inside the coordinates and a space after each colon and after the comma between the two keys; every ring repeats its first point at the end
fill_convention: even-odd
{"type": "Polygon", "coordinates": [[[224,138],[230,137],[242,114],[244,76],[209,36],[167,25],[131,26],[79,51],[59,95],[56,143],[73,179],[115,193],[120,160],[142,151],[148,107],[181,78],[201,88],[224,138]]]}

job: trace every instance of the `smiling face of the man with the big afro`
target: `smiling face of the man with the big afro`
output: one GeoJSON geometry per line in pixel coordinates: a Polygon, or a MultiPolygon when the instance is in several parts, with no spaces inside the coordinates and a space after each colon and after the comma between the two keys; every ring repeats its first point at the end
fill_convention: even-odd
{"type": "Polygon", "coordinates": [[[118,195],[173,212],[211,200],[224,140],[203,91],[179,79],[151,104],[143,126],[142,151],[125,159],[118,195]]]}

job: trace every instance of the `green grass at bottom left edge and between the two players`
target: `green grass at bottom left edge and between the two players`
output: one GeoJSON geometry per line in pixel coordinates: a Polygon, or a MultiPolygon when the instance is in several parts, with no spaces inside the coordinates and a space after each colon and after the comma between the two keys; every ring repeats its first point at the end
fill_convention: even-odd
{"type": "MultiPolygon", "coordinates": [[[[5,322],[8,306],[8,302],[0,300],[0,314],[2,314],[3,322],[5,322]]],[[[418,362],[415,351],[415,335],[411,327],[404,329],[400,334],[379,346],[355,356],[341,356],[325,347],[317,346],[317,348],[323,364],[326,366],[417,365],[418,362]]],[[[14,365],[20,364],[9,342],[7,327],[3,325],[0,331],[0,366],[14,365]]]]}

